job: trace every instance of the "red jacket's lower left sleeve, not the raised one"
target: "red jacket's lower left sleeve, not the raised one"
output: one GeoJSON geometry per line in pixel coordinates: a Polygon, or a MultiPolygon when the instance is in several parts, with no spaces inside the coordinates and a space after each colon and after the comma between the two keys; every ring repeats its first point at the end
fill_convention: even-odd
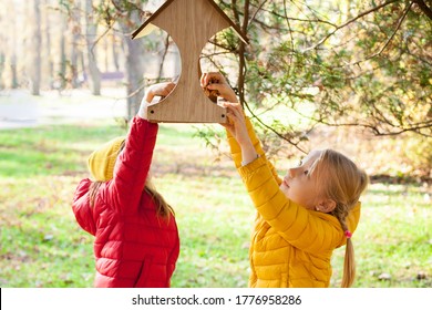
{"type": "Polygon", "coordinates": [[[94,236],[96,234],[96,224],[93,217],[93,208],[89,202],[91,184],[92,182],[89,178],[80,182],[73,197],[72,210],[81,228],[94,236]]]}

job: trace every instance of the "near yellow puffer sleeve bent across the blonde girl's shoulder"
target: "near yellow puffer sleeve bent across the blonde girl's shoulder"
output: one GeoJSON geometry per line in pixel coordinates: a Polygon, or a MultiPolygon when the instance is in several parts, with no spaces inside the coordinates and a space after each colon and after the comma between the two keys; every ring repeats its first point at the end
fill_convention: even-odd
{"type": "Polygon", "coordinates": [[[313,254],[332,250],[342,242],[338,220],[288,199],[265,158],[259,157],[238,170],[257,211],[287,242],[313,254]]]}

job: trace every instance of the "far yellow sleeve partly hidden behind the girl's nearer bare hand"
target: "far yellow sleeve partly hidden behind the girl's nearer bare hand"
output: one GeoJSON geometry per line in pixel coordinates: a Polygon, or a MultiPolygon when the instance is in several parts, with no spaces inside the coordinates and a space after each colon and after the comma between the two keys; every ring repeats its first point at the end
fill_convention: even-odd
{"type": "MultiPolygon", "coordinates": [[[[263,146],[261,146],[261,142],[258,140],[249,117],[245,116],[245,121],[246,121],[247,132],[248,132],[250,141],[255,147],[255,151],[257,152],[257,154],[260,157],[266,157],[266,154],[265,154],[263,146]]],[[[236,138],[229,133],[229,131],[226,131],[226,133],[227,133],[228,144],[229,144],[229,148],[230,148],[234,164],[236,165],[236,168],[239,168],[241,166],[241,148],[238,145],[236,138]]],[[[274,178],[280,185],[282,183],[282,180],[278,176],[278,174],[276,173],[274,165],[267,159],[266,159],[266,163],[267,163],[269,169],[271,170],[274,178]]]]}

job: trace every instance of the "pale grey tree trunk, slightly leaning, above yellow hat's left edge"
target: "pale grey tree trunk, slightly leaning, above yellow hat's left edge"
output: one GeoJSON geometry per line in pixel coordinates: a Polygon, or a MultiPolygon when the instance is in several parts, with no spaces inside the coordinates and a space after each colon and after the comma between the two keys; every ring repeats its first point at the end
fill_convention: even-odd
{"type": "Polygon", "coordinates": [[[95,38],[97,25],[93,19],[93,1],[85,0],[85,24],[86,24],[86,60],[89,65],[89,85],[93,95],[101,95],[101,72],[97,68],[95,38]]]}

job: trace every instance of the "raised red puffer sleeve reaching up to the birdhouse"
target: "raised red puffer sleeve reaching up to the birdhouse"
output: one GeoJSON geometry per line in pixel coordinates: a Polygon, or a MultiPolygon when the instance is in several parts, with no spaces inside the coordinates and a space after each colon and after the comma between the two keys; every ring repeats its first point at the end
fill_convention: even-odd
{"type": "Polygon", "coordinates": [[[125,141],[125,147],[114,166],[114,176],[107,188],[110,205],[119,213],[136,211],[152,164],[158,125],[135,116],[125,141]]]}

